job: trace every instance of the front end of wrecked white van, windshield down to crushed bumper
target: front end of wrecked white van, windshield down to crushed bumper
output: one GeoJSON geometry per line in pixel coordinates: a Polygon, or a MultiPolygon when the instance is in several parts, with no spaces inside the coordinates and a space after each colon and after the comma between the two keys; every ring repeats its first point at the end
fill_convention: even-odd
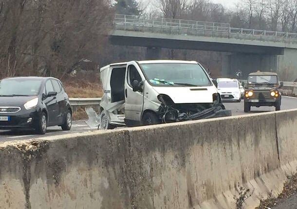
{"type": "Polygon", "coordinates": [[[144,83],[143,113],[148,110],[154,111],[162,123],[231,116],[231,111],[225,110],[217,88],[200,64],[196,62],[153,63],[154,65],[140,62],[139,64],[147,78],[144,83]],[[168,75],[164,71],[170,67],[176,68],[176,71],[168,75]],[[161,78],[150,72],[150,70],[157,72],[157,69],[163,70],[157,73],[162,76],[161,78]],[[201,71],[194,73],[194,70],[201,71]],[[176,75],[179,74],[178,71],[183,71],[184,75],[176,75]],[[198,79],[195,80],[195,77],[198,79]]]}

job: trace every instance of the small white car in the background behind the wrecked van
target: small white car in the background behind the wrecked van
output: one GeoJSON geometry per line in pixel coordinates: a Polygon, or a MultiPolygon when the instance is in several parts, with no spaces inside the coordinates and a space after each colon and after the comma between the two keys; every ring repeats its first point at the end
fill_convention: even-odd
{"type": "Polygon", "coordinates": [[[218,91],[223,101],[241,102],[242,90],[237,79],[217,79],[217,82],[218,91]]]}

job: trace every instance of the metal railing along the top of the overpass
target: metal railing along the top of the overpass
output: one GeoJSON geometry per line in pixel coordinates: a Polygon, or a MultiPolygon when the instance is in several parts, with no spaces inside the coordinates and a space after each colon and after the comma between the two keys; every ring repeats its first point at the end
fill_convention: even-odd
{"type": "Polygon", "coordinates": [[[242,40],[297,44],[297,33],[231,28],[228,23],[183,19],[115,15],[114,28],[120,31],[235,38],[242,40]]]}

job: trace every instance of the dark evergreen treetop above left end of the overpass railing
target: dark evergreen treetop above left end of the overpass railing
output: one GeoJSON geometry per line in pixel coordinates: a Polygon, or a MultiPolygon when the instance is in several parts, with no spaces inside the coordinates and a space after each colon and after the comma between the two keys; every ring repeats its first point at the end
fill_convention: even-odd
{"type": "Polygon", "coordinates": [[[115,13],[122,15],[136,15],[139,16],[138,3],[136,0],[115,0],[115,13]]]}

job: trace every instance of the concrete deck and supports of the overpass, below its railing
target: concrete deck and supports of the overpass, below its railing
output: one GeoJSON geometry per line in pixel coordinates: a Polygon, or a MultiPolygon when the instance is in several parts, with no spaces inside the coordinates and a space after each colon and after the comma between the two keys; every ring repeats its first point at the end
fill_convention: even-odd
{"type": "Polygon", "coordinates": [[[294,48],[260,41],[182,35],[166,37],[165,34],[113,32],[109,40],[112,45],[147,47],[148,60],[162,59],[160,48],[227,52],[222,64],[222,76],[226,77],[234,77],[240,70],[246,79],[250,72],[261,70],[278,72],[284,81],[297,78],[297,49],[294,48]]]}

